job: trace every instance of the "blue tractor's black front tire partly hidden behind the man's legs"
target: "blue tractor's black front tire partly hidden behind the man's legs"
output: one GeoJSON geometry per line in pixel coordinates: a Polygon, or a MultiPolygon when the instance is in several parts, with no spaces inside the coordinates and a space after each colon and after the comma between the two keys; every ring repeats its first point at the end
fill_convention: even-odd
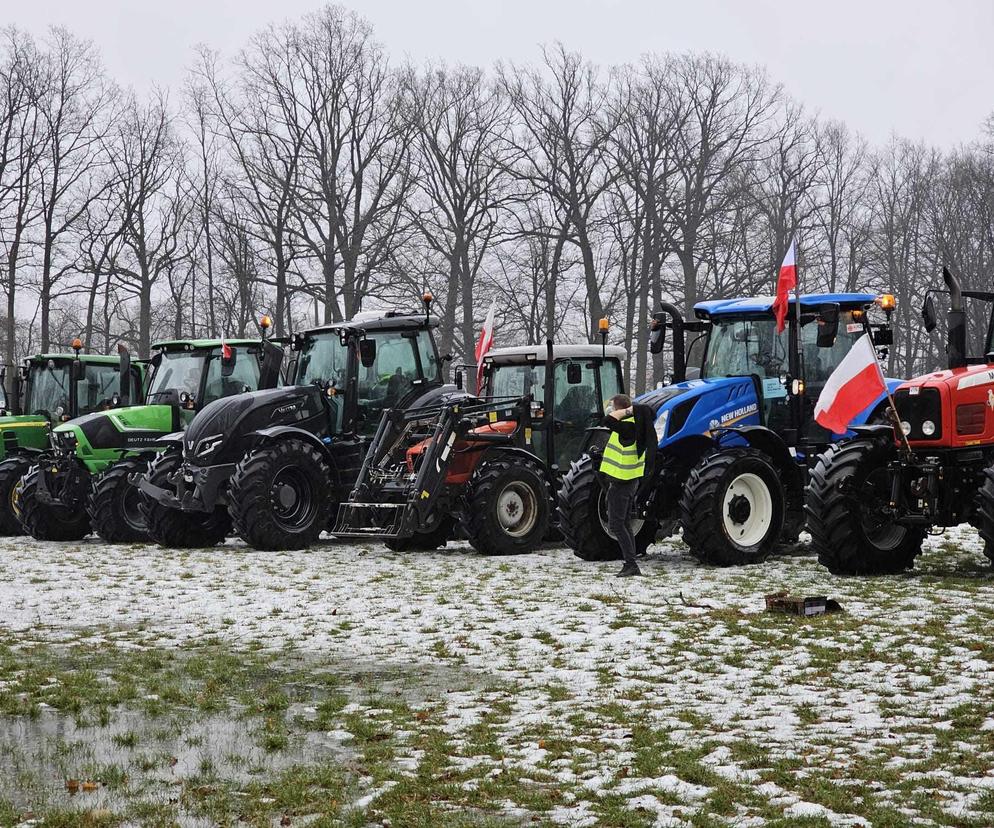
{"type": "MultiPolygon", "coordinates": [[[[573,554],[585,561],[616,561],[621,547],[607,533],[604,487],[589,454],[570,464],[556,497],[559,528],[573,554]]],[[[655,521],[633,521],[635,552],[643,554],[656,538],[655,521]]]]}

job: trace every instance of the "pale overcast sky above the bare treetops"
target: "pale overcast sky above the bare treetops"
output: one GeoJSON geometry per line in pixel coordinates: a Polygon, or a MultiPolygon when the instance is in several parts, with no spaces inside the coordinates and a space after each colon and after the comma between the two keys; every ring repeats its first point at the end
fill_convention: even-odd
{"type": "MultiPolygon", "coordinates": [[[[0,0],[0,23],[68,26],[119,82],[177,86],[206,43],[236,51],[255,30],[319,0],[0,0]]],[[[766,64],[809,109],[875,143],[891,133],[944,147],[994,112],[994,0],[356,0],[397,59],[533,60],[563,41],[602,64],[712,50],[766,64]]]]}

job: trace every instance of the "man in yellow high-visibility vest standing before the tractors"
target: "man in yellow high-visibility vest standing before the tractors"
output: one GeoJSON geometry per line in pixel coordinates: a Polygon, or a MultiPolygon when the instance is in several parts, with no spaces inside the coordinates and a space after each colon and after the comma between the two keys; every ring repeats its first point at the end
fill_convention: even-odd
{"type": "Polygon", "coordinates": [[[652,427],[652,409],[632,405],[627,394],[611,399],[611,413],[604,418],[604,425],[611,429],[611,436],[604,447],[600,471],[607,483],[607,531],[621,547],[624,566],[620,578],[641,575],[635,561],[635,536],[630,524],[632,502],[638,495],[639,485],[646,473],[646,455],[654,456],[655,443],[652,427]]]}

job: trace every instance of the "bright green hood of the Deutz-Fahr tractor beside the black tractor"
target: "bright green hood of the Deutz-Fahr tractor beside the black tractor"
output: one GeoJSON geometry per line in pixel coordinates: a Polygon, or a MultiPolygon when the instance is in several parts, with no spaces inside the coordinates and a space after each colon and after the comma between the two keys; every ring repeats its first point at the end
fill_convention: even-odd
{"type": "Polygon", "coordinates": [[[173,406],[135,405],[94,411],[62,423],[54,429],[53,440],[64,444],[72,435],[83,456],[102,449],[139,451],[152,448],[160,437],[178,428],[178,412],[173,406]]]}

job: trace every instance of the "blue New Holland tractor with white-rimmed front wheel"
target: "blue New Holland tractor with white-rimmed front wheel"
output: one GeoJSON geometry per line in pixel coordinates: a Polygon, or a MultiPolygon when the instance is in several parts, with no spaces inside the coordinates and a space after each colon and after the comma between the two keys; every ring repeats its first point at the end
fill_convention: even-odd
{"type": "MultiPolygon", "coordinates": [[[[668,303],[654,314],[650,350],[661,353],[672,331],[673,376],[636,400],[655,411],[659,439],[632,517],[640,551],[677,524],[691,554],[719,566],[754,563],[796,541],[808,466],[842,436],[815,422],[815,402],[864,333],[886,353],[894,298],[804,295],[799,312],[792,298],[782,333],[772,306],[772,297],[716,299],[695,305],[694,320],[668,303]],[[886,321],[871,324],[875,308],[886,321]]],[[[883,421],[886,404],[881,395],[851,425],[883,421]]],[[[620,557],[607,533],[599,454],[594,439],[558,493],[560,528],[585,560],[620,557]]]]}

